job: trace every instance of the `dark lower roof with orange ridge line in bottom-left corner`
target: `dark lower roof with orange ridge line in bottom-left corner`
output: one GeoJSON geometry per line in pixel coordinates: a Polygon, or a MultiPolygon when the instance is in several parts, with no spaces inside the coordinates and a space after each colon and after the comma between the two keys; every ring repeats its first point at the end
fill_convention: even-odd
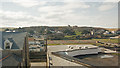
{"type": "Polygon", "coordinates": [[[2,50],[2,58],[0,58],[2,66],[18,66],[22,62],[21,50],[2,50]]]}

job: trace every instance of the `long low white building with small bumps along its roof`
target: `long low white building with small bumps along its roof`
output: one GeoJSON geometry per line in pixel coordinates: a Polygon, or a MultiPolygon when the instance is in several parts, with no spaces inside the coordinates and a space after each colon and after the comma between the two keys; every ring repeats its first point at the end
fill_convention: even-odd
{"type": "MultiPolygon", "coordinates": [[[[70,46],[69,46],[70,47],[70,46]]],[[[69,56],[77,56],[77,55],[86,55],[86,54],[98,54],[102,52],[98,46],[78,46],[78,47],[70,47],[71,49],[66,51],[66,54],[69,56]]]]}

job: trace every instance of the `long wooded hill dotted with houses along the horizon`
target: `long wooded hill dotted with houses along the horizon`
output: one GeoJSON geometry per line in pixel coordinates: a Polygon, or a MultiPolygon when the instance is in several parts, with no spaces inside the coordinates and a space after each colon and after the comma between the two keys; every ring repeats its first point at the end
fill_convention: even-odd
{"type": "Polygon", "coordinates": [[[79,26],[31,26],[19,28],[3,28],[5,32],[27,32],[29,37],[40,38],[47,35],[49,40],[86,40],[110,38],[120,34],[114,28],[79,27],[79,26]]]}

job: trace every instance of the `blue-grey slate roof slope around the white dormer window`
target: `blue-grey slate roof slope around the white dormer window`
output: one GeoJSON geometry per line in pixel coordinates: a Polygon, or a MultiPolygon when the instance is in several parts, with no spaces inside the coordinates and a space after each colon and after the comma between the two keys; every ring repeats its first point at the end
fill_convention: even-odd
{"type": "Polygon", "coordinates": [[[11,49],[23,49],[26,35],[26,32],[0,32],[0,47],[4,49],[4,41],[8,39],[13,43],[11,49]]]}

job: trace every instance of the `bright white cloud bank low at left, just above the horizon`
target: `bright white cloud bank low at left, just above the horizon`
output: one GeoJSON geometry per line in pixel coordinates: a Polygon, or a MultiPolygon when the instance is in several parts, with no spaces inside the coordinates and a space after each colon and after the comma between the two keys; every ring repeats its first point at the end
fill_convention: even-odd
{"type": "Polygon", "coordinates": [[[42,16],[33,16],[27,12],[14,12],[0,10],[0,27],[26,27],[26,26],[38,26],[48,25],[51,22],[55,22],[55,19],[47,19],[42,16]]]}

